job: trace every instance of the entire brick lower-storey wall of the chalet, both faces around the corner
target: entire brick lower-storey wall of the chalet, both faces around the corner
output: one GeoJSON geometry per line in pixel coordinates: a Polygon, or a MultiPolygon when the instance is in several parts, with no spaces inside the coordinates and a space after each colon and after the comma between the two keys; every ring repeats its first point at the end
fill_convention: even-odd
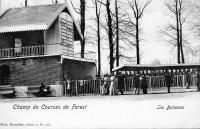
{"type": "Polygon", "coordinates": [[[61,66],[60,56],[0,60],[0,67],[5,65],[10,68],[13,86],[40,85],[41,82],[50,85],[64,76],[87,80],[96,75],[95,63],[64,59],[61,66]]]}

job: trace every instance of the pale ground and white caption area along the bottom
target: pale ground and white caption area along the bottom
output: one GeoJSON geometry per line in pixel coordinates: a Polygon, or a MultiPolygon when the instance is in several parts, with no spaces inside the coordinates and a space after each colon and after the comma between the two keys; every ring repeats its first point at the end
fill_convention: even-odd
{"type": "Polygon", "coordinates": [[[200,92],[2,99],[0,107],[0,129],[200,127],[200,92]]]}

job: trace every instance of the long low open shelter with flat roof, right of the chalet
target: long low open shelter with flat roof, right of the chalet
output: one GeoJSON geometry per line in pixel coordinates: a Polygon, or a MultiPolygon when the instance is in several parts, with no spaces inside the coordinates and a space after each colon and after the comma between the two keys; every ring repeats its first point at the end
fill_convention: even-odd
{"type": "Polygon", "coordinates": [[[199,70],[200,64],[123,65],[113,72],[124,75],[127,91],[134,90],[137,76],[146,75],[148,93],[161,93],[167,91],[166,77],[169,79],[169,76],[171,92],[196,91],[199,70]]]}

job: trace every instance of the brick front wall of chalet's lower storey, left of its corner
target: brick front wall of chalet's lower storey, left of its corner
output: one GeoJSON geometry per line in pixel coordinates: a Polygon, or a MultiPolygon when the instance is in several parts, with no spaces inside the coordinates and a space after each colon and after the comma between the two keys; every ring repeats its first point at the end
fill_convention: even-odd
{"type": "Polygon", "coordinates": [[[0,61],[10,67],[10,83],[14,86],[55,84],[61,79],[60,56],[0,61]]]}

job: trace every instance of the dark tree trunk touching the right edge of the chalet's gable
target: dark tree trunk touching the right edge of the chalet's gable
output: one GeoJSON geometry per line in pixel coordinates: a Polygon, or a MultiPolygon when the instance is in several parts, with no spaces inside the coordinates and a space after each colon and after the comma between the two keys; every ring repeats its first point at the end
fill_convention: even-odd
{"type": "Polygon", "coordinates": [[[85,54],[85,0],[80,0],[80,17],[81,17],[81,34],[83,39],[81,40],[81,58],[84,58],[85,54]]]}

